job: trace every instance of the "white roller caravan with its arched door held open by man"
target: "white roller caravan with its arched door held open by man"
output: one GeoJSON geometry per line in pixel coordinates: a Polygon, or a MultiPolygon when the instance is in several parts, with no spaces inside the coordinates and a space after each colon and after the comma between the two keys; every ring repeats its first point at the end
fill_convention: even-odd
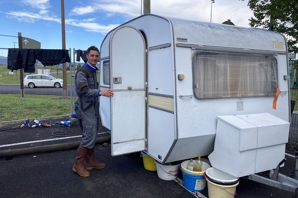
{"type": "Polygon", "coordinates": [[[100,89],[114,90],[113,98],[99,99],[112,155],[146,150],[165,163],[214,151],[210,161],[222,170],[216,159],[227,158],[220,155],[238,157],[231,161],[239,165],[238,173],[224,169],[235,176],[275,168],[288,142],[288,79],[282,34],[153,14],[137,17],[109,32],[100,47],[100,89]],[[231,130],[239,132],[225,147],[231,130]],[[216,140],[217,131],[227,133],[220,136],[225,142],[216,140]],[[258,144],[261,138],[269,143],[258,144]],[[271,151],[277,154],[269,156],[271,151]],[[258,158],[265,159],[261,168],[241,172],[258,158]]]}

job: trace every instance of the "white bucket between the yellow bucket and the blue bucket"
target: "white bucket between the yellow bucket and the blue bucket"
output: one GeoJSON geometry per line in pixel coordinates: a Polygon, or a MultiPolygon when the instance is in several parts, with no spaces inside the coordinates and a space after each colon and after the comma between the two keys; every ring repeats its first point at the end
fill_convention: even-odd
{"type": "Polygon", "coordinates": [[[174,180],[176,179],[179,171],[180,164],[177,165],[163,165],[158,161],[154,160],[157,169],[157,175],[160,179],[163,180],[174,180]]]}

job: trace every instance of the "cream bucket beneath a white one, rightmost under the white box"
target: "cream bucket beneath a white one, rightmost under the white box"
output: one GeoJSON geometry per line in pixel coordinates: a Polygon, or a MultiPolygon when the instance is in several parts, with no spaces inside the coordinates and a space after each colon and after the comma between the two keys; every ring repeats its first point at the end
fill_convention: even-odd
{"type": "Polygon", "coordinates": [[[208,180],[206,177],[207,183],[208,183],[208,197],[209,198],[234,198],[236,194],[236,187],[239,184],[237,182],[236,184],[227,186],[227,185],[220,185],[215,184],[208,180]]]}

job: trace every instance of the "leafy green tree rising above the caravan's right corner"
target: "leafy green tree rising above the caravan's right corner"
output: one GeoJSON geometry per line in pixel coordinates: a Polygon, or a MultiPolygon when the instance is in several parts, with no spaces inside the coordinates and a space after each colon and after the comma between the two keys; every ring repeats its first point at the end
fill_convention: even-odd
{"type": "Polygon", "coordinates": [[[247,5],[254,14],[251,27],[273,27],[287,37],[289,52],[298,52],[298,0],[248,0],[247,5]]]}

